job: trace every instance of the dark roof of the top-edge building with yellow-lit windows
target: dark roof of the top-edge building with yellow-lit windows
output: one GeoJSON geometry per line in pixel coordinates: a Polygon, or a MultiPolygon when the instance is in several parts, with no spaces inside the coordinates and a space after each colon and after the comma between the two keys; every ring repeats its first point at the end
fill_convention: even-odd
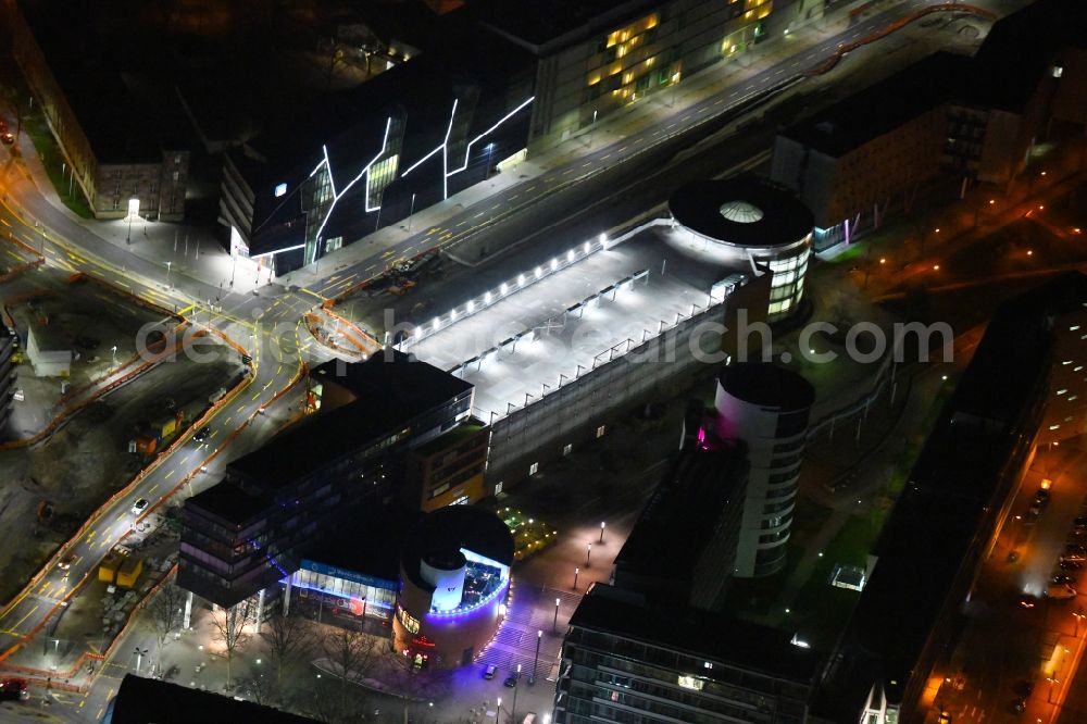
{"type": "Polygon", "coordinates": [[[652,0],[471,0],[471,14],[486,27],[536,52],[607,33],[653,10],[652,0]]]}

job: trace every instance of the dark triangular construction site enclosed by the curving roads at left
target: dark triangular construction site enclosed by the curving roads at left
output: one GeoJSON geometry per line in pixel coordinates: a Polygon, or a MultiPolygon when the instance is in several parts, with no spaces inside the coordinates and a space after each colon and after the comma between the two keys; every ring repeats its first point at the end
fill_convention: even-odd
{"type": "Polygon", "coordinates": [[[92,277],[42,269],[0,284],[0,295],[18,339],[0,445],[0,525],[12,541],[0,600],[9,600],[246,369],[215,337],[92,277]],[[199,359],[185,353],[193,345],[199,359]]]}

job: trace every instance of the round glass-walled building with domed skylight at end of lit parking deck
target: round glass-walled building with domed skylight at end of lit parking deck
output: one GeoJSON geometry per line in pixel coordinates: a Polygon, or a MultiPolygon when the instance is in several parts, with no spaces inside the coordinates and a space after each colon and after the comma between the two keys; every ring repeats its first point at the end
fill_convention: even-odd
{"type": "Polygon", "coordinates": [[[784,320],[797,311],[815,221],[790,191],[751,175],[698,180],[676,189],[669,210],[694,238],[745,265],[770,269],[767,320],[784,320]]]}

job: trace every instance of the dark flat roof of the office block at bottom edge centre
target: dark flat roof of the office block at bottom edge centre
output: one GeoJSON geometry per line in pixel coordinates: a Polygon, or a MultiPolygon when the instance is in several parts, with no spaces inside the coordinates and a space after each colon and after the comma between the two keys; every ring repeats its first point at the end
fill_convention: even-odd
{"type": "MultiPolygon", "coordinates": [[[[637,596],[594,584],[570,619],[582,627],[630,638],[707,661],[808,684],[819,657],[812,649],[790,644],[792,634],[696,609],[657,607],[637,596]]],[[[699,672],[713,677],[713,669],[699,672]]],[[[724,674],[724,672],[722,672],[724,674]]]]}

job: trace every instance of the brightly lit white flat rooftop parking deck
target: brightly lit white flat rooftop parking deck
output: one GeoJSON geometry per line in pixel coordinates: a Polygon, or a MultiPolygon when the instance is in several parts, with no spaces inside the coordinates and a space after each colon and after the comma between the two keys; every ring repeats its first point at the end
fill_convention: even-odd
{"type": "Polygon", "coordinates": [[[641,344],[644,335],[658,333],[661,322],[671,326],[676,314],[689,315],[692,305],[704,309],[710,288],[733,270],[689,248],[680,250],[680,244],[666,229],[645,230],[461,319],[409,351],[453,370],[515,335],[540,330],[538,340],[526,337],[461,374],[475,386],[474,414],[489,422],[491,412],[504,415],[508,404],[523,405],[525,396],[538,397],[544,385],[557,387],[560,375],[573,378],[578,367],[591,370],[597,359],[599,366],[613,347],[625,351],[628,339],[641,344]],[[644,270],[648,275],[620,290],[614,301],[601,299],[582,319],[563,323],[570,307],[644,270]]]}

